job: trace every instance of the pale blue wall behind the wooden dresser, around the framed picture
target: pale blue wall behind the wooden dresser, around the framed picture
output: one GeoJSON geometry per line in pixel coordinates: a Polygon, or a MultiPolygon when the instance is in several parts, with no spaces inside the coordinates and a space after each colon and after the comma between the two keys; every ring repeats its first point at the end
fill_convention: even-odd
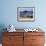
{"type": "Polygon", "coordinates": [[[46,28],[46,0],[1,0],[0,25],[13,24],[16,28],[46,28]],[[17,7],[35,7],[34,22],[18,22],[17,7]]]}

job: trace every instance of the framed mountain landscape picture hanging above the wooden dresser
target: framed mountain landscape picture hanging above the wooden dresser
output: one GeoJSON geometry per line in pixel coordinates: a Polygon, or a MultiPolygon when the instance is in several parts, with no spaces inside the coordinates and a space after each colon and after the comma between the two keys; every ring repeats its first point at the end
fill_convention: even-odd
{"type": "Polygon", "coordinates": [[[17,20],[23,22],[31,22],[35,20],[35,8],[34,7],[18,7],[17,8],[17,20]]]}

